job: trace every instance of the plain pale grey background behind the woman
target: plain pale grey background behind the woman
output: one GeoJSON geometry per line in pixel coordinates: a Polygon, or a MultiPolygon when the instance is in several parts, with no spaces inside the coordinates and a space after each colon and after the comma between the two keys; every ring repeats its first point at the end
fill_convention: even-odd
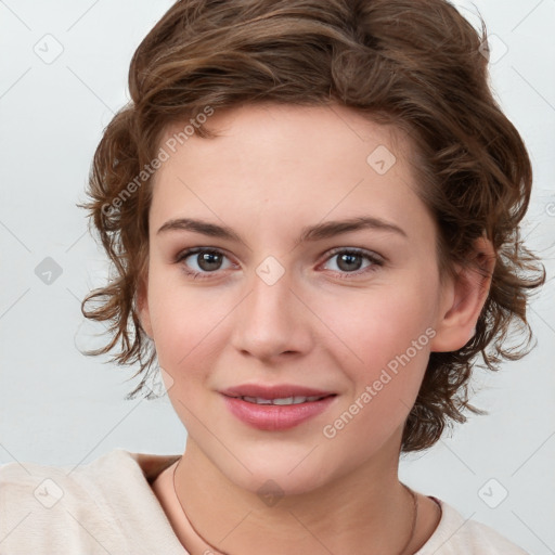
{"type": "MultiPolygon", "coordinates": [[[[171,3],[0,1],[0,463],[75,465],[115,448],[184,449],[167,398],[124,401],[132,371],[77,349],[102,331],[83,322],[79,302],[107,266],[75,204],[85,199],[103,128],[128,100],[131,55],[171,3]],[[47,257],[62,271],[50,284],[36,274],[52,264],[47,257]]],[[[470,2],[456,5],[473,21],[470,2]]],[[[551,279],[555,0],[475,5],[495,36],[492,86],[532,156],[535,190],[524,229],[551,279]]],[[[529,311],[535,349],[495,375],[477,373],[475,403],[490,415],[401,464],[413,488],[539,555],[555,553],[554,292],[550,281],[529,311]]]]}

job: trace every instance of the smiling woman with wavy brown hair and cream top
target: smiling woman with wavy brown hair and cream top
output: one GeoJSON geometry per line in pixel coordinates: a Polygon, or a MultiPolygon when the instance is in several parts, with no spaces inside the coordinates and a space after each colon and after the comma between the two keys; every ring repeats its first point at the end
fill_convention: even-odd
{"type": "Polygon", "coordinates": [[[95,153],[116,274],[83,312],[186,449],[5,465],[7,553],[525,553],[398,478],[544,280],[485,39],[443,0],[165,14],[95,153]]]}

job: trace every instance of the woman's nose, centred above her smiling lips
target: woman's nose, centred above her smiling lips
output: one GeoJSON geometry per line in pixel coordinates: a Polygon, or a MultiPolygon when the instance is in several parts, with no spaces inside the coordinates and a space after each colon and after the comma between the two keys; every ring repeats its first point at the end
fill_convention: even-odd
{"type": "Polygon", "coordinates": [[[254,274],[248,295],[234,311],[232,345],[242,354],[276,362],[312,348],[310,310],[292,285],[287,272],[272,285],[254,274]]]}

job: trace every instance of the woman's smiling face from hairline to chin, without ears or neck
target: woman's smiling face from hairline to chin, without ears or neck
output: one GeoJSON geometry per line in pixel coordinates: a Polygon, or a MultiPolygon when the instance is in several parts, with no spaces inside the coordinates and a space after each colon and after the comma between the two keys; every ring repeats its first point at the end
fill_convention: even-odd
{"type": "Polygon", "coordinates": [[[206,125],[156,175],[141,311],[188,449],[289,493],[398,456],[442,298],[411,144],[341,106],[206,125]]]}

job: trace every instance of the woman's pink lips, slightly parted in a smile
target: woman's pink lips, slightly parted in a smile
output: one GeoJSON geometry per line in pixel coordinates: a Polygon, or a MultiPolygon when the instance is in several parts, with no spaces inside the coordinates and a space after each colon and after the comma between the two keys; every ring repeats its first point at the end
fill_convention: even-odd
{"type": "Polygon", "coordinates": [[[234,416],[251,427],[268,431],[298,426],[325,411],[336,397],[332,391],[291,384],[245,384],[221,393],[234,416]]]}

